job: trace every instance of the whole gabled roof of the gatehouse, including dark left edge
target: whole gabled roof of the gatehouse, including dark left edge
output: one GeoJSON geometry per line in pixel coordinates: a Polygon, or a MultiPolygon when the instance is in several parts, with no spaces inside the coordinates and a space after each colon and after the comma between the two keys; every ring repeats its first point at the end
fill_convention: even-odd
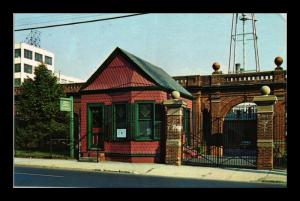
{"type": "Polygon", "coordinates": [[[143,71],[146,75],[153,79],[153,81],[170,91],[179,91],[182,95],[188,96],[190,98],[193,95],[178,84],[170,75],[168,75],[163,69],[117,47],[111,55],[105,60],[105,62],[98,68],[98,70],[87,80],[86,84],[81,88],[84,89],[89,84],[91,84],[97,76],[102,72],[102,70],[112,61],[112,59],[120,53],[123,55],[130,63],[133,63],[137,68],[143,71]]]}

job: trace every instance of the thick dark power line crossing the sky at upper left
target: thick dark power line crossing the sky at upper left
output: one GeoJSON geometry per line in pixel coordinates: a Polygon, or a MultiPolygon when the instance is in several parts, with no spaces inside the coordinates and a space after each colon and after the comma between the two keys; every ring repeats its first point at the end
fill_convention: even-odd
{"type": "Polygon", "coordinates": [[[105,21],[105,20],[113,20],[113,19],[132,17],[132,16],[137,16],[137,15],[145,15],[145,14],[147,14],[147,13],[138,13],[138,14],[132,14],[132,15],[123,15],[123,16],[102,18],[102,19],[88,20],[88,21],[81,21],[81,22],[71,22],[71,23],[65,23],[65,24],[55,24],[55,25],[48,25],[48,26],[25,28],[25,29],[16,29],[15,31],[27,31],[27,30],[33,30],[33,29],[45,29],[45,28],[51,28],[51,27],[60,27],[60,26],[68,26],[68,25],[75,25],[75,24],[84,24],[84,23],[99,22],[99,21],[105,21]]]}

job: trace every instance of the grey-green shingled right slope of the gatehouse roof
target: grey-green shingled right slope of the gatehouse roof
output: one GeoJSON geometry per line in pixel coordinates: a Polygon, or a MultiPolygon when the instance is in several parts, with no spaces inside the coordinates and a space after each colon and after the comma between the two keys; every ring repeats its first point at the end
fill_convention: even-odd
{"type": "Polygon", "coordinates": [[[193,95],[188,92],[185,88],[183,88],[180,84],[178,84],[170,75],[168,75],[163,69],[121,49],[118,48],[121,52],[123,52],[129,59],[134,62],[138,67],[140,67],[147,75],[149,75],[157,84],[161,87],[172,90],[179,91],[181,94],[188,96],[190,98],[193,95]]]}

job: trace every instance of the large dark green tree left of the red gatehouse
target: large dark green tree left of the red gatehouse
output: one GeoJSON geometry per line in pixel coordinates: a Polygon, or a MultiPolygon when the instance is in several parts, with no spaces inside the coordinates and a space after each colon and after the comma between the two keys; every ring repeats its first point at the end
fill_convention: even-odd
{"type": "Polygon", "coordinates": [[[20,92],[16,105],[16,148],[41,148],[51,135],[66,136],[66,115],[59,110],[64,90],[44,64],[35,69],[34,79],[24,81],[20,92]]]}

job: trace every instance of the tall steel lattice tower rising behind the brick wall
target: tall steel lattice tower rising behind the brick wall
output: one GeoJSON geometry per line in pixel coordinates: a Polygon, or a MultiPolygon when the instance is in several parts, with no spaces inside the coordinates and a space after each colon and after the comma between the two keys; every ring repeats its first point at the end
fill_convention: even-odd
{"type": "Polygon", "coordinates": [[[246,70],[246,41],[253,41],[254,45],[254,59],[256,72],[260,71],[258,47],[257,47],[257,34],[256,34],[256,19],[254,13],[234,13],[232,15],[232,26],[231,26],[231,38],[230,38],[230,50],[229,50],[229,65],[228,73],[241,73],[246,70]],[[240,22],[240,23],[239,23],[240,22]],[[247,24],[250,22],[250,26],[247,24]],[[248,25],[248,26],[247,26],[248,25]],[[247,31],[246,31],[246,28],[247,31]],[[242,42],[242,68],[240,63],[236,63],[236,47],[242,42]]]}

